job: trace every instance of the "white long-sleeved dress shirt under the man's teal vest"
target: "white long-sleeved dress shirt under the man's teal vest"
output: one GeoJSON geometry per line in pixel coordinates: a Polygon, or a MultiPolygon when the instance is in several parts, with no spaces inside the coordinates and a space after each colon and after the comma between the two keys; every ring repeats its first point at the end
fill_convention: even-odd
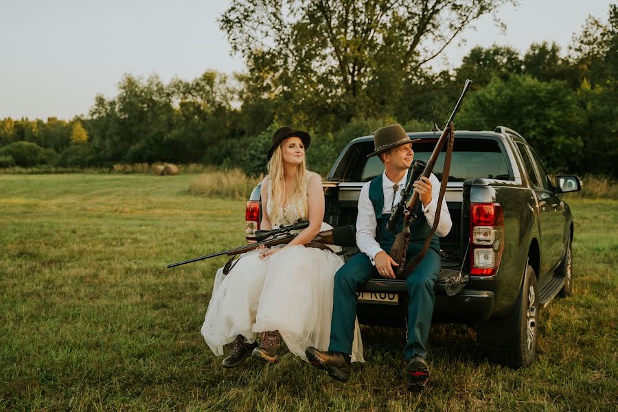
{"type": "MultiPolygon", "coordinates": [[[[394,205],[397,205],[401,199],[401,190],[406,186],[408,174],[404,174],[403,178],[397,183],[398,190],[393,190],[395,183],[391,182],[386,175],[382,173],[382,193],[384,194],[384,207],[382,214],[392,213],[393,211],[393,194],[395,194],[394,205]]],[[[440,193],[440,181],[432,173],[429,176],[431,181],[431,202],[425,207],[421,202],[422,211],[427,219],[429,227],[433,227],[433,220],[437,208],[437,198],[440,193]]],[[[375,265],[374,258],[379,252],[382,252],[380,244],[376,241],[376,212],[374,204],[369,199],[369,185],[371,181],[365,183],[361,189],[361,196],[358,198],[358,216],[356,217],[356,244],[361,252],[369,256],[371,263],[375,265]]],[[[418,200],[420,202],[420,198],[418,200]]],[[[448,235],[453,222],[450,220],[450,213],[446,207],[446,199],[442,200],[442,211],[440,212],[440,221],[435,229],[435,234],[443,238],[448,235]]]]}

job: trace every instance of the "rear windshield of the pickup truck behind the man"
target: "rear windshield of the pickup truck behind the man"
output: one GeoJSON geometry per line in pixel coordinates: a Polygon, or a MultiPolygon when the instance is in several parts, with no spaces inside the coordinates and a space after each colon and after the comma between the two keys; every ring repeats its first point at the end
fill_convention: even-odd
{"type": "MultiPolygon", "coordinates": [[[[414,159],[428,161],[437,139],[422,139],[412,145],[414,159]]],[[[358,144],[356,165],[350,170],[350,181],[369,181],[384,172],[384,165],[378,157],[365,159],[374,151],[372,141],[358,144]]],[[[442,179],[444,152],[441,152],[433,168],[433,174],[442,179]]],[[[453,160],[450,164],[448,181],[463,182],[474,178],[511,180],[505,155],[499,142],[494,139],[455,139],[453,160]]]]}

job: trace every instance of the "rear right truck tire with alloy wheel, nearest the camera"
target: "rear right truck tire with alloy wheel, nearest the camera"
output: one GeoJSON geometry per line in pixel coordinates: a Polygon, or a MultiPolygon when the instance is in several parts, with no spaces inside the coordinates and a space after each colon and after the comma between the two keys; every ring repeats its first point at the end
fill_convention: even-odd
{"type": "Polygon", "coordinates": [[[538,340],[538,290],[536,274],[526,265],[523,287],[513,313],[490,320],[477,328],[477,342],[488,352],[490,361],[518,369],[530,365],[538,340]]]}

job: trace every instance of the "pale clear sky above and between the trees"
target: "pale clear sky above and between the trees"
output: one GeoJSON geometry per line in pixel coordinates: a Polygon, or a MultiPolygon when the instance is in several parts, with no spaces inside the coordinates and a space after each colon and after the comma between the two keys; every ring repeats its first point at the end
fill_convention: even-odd
{"type": "MultiPolygon", "coordinates": [[[[555,41],[566,54],[588,14],[607,20],[610,0],[520,0],[504,6],[505,34],[491,17],[446,50],[457,67],[472,47],[520,52],[555,41]]],[[[117,94],[124,73],[192,80],[207,69],[242,71],[216,19],[222,0],[0,0],[0,119],[88,115],[95,95],[117,94]]],[[[441,64],[441,63],[437,63],[441,64]]]]}

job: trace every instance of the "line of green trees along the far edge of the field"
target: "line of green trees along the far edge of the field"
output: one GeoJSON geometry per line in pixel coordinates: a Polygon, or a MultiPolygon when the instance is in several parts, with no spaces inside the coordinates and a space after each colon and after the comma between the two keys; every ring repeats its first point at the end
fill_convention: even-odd
{"type": "MultiPolygon", "coordinates": [[[[325,174],[343,146],[391,122],[439,126],[466,78],[457,129],[508,126],[552,172],[618,176],[618,8],[589,16],[563,54],[555,43],[474,47],[436,70],[465,27],[510,0],[234,0],[220,17],[247,71],[194,80],[127,74],[86,117],[0,120],[0,167],[207,163],[264,171],[273,130],[308,130],[325,174]],[[286,5],[283,7],[282,5],[286,5]]],[[[479,27],[482,30],[482,27],[479,27]]]]}

